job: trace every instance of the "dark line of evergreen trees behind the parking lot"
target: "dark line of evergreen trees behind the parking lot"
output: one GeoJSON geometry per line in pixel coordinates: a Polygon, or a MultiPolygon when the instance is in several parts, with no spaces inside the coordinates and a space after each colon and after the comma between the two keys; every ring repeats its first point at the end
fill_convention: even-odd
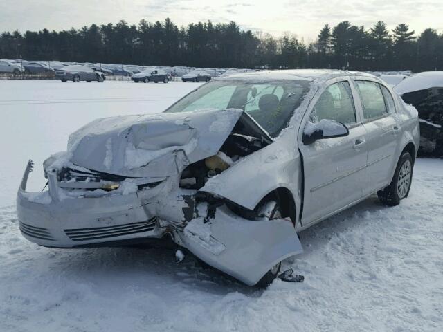
{"type": "Polygon", "coordinates": [[[285,33],[242,30],[198,22],[178,27],[170,19],[137,25],[92,24],[80,29],[3,32],[0,58],[212,68],[342,68],[363,71],[443,70],[443,34],[418,35],[407,24],[392,31],[383,21],[366,29],[342,21],[326,24],[315,42],[285,33]]]}

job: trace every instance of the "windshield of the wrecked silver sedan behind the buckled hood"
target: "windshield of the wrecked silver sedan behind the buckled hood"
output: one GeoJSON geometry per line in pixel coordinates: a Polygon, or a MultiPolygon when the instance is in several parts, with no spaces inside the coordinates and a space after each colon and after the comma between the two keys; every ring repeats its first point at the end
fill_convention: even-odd
{"type": "Polygon", "coordinates": [[[308,89],[309,81],[301,80],[215,80],[192,91],[165,112],[243,109],[275,137],[287,127],[308,89]]]}

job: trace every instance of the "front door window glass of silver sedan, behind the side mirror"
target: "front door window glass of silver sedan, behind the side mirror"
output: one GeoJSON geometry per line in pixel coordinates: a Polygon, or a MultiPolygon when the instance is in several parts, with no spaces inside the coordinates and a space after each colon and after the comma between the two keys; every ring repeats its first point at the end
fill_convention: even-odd
{"type": "Polygon", "coordinates": [[[337,82],[320,95],[311,113],[311,122],[323,119],[343,124],[356,123],[354,100],[349,82],[337,82]]]}

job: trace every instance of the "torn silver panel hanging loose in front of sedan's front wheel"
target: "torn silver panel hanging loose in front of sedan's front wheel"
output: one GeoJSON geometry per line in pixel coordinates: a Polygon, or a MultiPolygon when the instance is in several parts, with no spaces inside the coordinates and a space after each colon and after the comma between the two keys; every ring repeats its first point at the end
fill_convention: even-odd
{"type": "Polygon", "coordinates": [[[179,236],[194,255],[249,286],[278,262],[303,252],[289,221],[246,220],[223,206],[206,223],[190,221],[179,236]]]}

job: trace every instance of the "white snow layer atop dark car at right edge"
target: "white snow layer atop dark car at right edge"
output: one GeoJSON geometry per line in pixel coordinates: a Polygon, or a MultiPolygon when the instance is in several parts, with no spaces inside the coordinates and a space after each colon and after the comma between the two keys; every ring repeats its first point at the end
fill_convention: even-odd
{"type": "Polygon", "coordinates": [[[443,71],[425,71],[405,78],[394,87],[399,95],[431,88],[443,88],[443,71]]]}

